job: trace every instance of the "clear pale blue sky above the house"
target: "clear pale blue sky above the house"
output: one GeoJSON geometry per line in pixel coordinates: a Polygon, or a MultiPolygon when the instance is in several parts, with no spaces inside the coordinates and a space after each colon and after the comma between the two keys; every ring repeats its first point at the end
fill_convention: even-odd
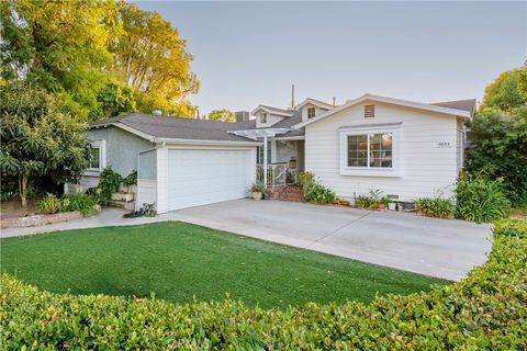
{"type": "Polygon", "coordinates": [[[337,104],[363,93],[419,102],[476,98],[527,58],[527,2],[139,1],[187,41],[214,109],[337,104]]]}

